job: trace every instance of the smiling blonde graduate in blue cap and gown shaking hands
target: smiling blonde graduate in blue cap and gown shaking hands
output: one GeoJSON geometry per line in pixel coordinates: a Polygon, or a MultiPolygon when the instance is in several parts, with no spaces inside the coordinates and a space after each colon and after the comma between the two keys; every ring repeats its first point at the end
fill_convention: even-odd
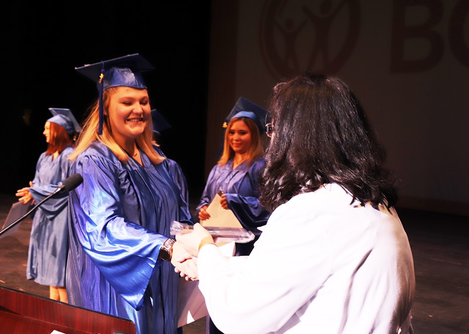
{"type": "Polygon", "coordinates": [[[142,77],[152,69],[138,54],[77,68],[98,82],[99,98],[71,156],[70,173],[84,181],[69,195],[67,289],[70,303],[128,318],[138,334],[174,334],[174,266],[194,278],[196,268],[175,261],[184,251],[170,224],[190,213],[153,146],[142,77]]]}

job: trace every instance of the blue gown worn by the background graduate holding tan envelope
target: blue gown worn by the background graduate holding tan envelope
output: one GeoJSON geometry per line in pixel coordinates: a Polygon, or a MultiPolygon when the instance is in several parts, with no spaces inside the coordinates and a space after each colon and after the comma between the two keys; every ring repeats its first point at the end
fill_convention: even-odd
{"type": "Polygon", "coordinates": [[[249,243],[237,243],[235,255],[251,253],[254,242],[261,233],[257,227],[265,225],[270,217],[270,212],[259,203],[257,194],[259,173],[264,163],[264,158],[261,157],[249,166],[243,162],[235,169],[233,169],[233,160],[223,166],[215,165],[209,174],[200,203],[196,208],[198,218],[200,208],[210,204],[220,188],[223,190],[228,208],[233,211],[241,225],[256,236],[249,243]]]}

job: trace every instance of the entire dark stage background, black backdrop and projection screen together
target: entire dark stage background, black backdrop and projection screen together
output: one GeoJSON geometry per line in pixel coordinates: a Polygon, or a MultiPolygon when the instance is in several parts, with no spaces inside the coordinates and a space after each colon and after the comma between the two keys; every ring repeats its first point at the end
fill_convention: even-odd
{"type": "Polygon", "coordinates": [[[49,107],[83,120],[97,98],[74,68],[140,53],[156,67],[145,74],[151,106],[172,125],[161,147],[195,202],[236,100],[266,107],[279,79],[310,70],[362,100],[398,207],[469,216],[468,0],[17,1],[2,14],[0,193],[33,178],[49,107]]]}

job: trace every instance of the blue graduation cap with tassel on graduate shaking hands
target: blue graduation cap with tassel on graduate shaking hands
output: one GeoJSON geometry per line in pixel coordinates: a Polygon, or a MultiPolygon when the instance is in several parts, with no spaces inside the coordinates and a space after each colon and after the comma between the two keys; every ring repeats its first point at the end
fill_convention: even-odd
{"type": "Polygon", "coordinates": [[[103,92],[111,87],[131,87],[136,89],[147,89],[142,72],[154,70],[145,58],[138,53],[119,58],[103,60],[94,64],[86,64],[75,67],[79,73],[88,79],[95,81],[99,93],[99,127],[98,135],[103,133],[103,92]]]}

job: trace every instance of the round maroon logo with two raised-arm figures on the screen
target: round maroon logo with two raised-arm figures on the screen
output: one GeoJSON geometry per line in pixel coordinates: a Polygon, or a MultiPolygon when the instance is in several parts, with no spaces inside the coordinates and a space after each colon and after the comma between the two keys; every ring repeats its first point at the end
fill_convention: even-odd
{"type": "Polygon", "coordinates": [[[359,0],[266,0],[261,15],[261,54],[276,79],[338,72],[360,30],[359,0]]]}

